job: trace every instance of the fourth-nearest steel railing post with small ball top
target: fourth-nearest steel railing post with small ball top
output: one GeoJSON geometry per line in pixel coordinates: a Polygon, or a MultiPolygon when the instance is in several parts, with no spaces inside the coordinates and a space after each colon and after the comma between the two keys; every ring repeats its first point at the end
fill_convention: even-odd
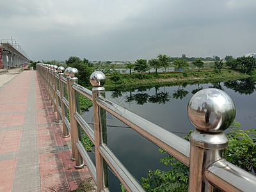
{"type": "MultiPolygon", "coordinates": [[[[65,104],[62,101],[63,95],[66,94],[66,88],[65,88],[65,83],[61,81],[61,77],[63,77],[63,71],[65,70],[64,67],[60,66],[58,67],[58,76],[59,76],[59,86],[60,86],[60,105],[61,105],[61,116],[62,120],[66,116],[67,109],[65,109],[65,104]]],[[[63,130],[63,138],[67,138],[70,136],[68,133],[68,128],[67,125],[63,122],[62,123],[62,130],[63,130]]]]}

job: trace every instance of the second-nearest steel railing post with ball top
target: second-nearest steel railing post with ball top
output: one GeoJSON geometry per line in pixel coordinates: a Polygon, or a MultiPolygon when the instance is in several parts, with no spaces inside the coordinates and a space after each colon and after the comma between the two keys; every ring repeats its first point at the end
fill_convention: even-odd
{"type": "Polygon", "coordinates": [[[95,137],[95,164],[97,175],[97,190],[108,188],[108,164],[104,161],[99,152],[99,145],[107,142],[106,111],[97,105],[97,97],[105,97],[106,76],[95,71],[90,76],[93,102],[93,127],[95,137]]]}

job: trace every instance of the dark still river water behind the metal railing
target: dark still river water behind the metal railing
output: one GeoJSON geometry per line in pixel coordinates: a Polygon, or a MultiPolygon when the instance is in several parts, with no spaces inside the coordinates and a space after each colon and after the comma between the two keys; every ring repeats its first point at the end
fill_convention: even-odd
{"type": "MultiPolygon", "coordinates": [[[[256,92],[255,81],[242,79],[231,82],[208,84],[183,84],[180,86],[141,87],[136,90],[115,90],[106,92],[106,98],[129,109],[143,118],[164,129],[186,136],[195,127],[189,122],[187,105],[193,94],[202,88],[219,88],[234,100],[237,122],[242,129],[255,128],[256,124],[256,92]]],[[[92,108],[83,114],[86,122],[93,122],[92,108]]],[[[140,180],[146,177],[148,170],[167,170],[159,163],[164,157],[158,147],[115,117],[107,113],[108,147],[122,161],[127,169],[140,180]]],[[[230,131],[227,129],[226,132],[230,131]]],[[[92,153],[92,152],[91,152],[92,153]]],[[[94,155],[90,155],[93,159],[94,155]]],[[[111,191],[120,191],[120,182],[109,171],[109,187],[111,191]]]]}

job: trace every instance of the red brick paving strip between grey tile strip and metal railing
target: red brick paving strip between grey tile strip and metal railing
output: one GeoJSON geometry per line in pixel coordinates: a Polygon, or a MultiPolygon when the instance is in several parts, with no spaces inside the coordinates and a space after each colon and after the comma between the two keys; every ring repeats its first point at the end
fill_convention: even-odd
{"type": "Polygon", "coordinates": [[[51,123],[49,127],[38,126],[38,148],[42,149],[39,155],[41,191],[72,191],[91,175],[86,168],[74,168],[75,162],[70,159],[71,151],[68,149],[70,138],[63,138],[62,126],[54,125],[56,113],[53,113],[45,89],[42,86],[40,88],[40,94],[36,92],[37,124],[51,123]],[[42,109],[45,111],[42,112],[42,109]],[[67,150],[63,150],[65,147],[67,150]],[[49,153],[49,150],[52,152],[49,153]]]}

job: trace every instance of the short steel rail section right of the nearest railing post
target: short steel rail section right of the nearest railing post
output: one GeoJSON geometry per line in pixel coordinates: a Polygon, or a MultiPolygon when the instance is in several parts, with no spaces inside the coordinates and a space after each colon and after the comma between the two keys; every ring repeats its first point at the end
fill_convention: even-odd
{"type": "Polygon", "coordinates": [[[255,176],[226,160],[207,168],[205,178],[223,191],[256,191],[255,176]]]}

